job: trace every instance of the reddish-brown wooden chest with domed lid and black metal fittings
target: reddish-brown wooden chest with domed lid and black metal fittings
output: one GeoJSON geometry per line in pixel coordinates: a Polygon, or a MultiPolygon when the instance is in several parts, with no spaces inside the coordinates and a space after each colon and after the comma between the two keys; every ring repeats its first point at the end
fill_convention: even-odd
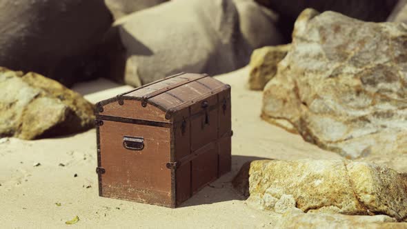
{"type": "Polygon", "coordinates": [[[180,73],[97,103],[99,195],[175,208],[230,171],[230,86],[180,73]]]}

